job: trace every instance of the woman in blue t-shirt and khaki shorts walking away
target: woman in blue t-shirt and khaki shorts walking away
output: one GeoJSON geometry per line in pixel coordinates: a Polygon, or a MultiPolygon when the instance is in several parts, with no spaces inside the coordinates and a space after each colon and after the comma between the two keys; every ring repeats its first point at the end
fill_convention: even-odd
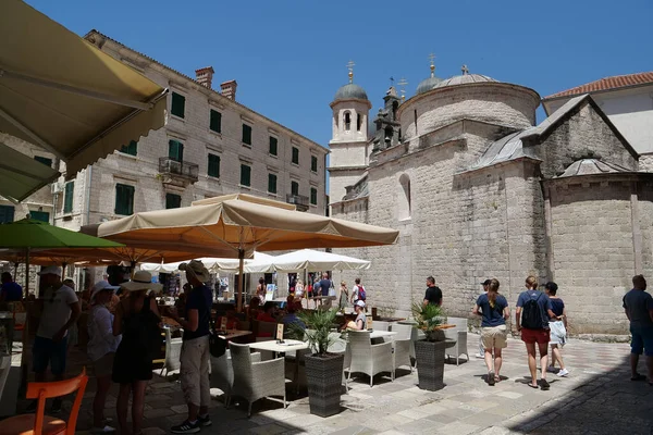
{"type": "Polygon", "coordinates": [[[483,318],[481,321],[481,338],[485,351],[489,385],[494,385],[501,381],[500,372],[503,362],[501,353],[507,346],[506,319],[510,316],[508,301],[498,294],[498,285],[497,279],[491,279],[488,293],[479,296],[473,307],[473,313],[483,318]],[[492,358],[493,352],[494,358],[492,358]]]}

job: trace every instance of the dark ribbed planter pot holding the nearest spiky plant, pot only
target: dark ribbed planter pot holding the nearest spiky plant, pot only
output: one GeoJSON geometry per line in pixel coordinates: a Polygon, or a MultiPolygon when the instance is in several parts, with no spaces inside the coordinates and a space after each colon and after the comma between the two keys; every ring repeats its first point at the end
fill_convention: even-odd
{"type": "Polygon", "coordinates": [[[341,411],[344,355],[306,357],[306,381],[310,413],[330,417],[341,411]]]}

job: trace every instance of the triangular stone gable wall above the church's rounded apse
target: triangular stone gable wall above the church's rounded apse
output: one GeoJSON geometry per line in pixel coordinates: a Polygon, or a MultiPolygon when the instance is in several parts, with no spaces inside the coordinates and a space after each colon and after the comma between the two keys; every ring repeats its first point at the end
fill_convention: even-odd
{"type": "Polygon", "coordinates": [[[540,145],[530,146],[543,160],[542,174],[546,178],[562,174],[575,161],[593,157],[637,171],[637,159],[626,149],[599,113],[584,102],[578,113],[543,138],[540,145]]]}

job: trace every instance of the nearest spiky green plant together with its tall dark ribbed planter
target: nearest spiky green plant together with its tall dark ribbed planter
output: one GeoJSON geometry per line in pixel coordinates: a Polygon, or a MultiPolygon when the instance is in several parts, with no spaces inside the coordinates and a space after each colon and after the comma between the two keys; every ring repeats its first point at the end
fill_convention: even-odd
{"type": "Polygon", "coordinates": [[[291,334],[308,341],[312,353],[305,356],[306,382],[308,384],[308,403],[310,413],[329,417],[341,411],[343,363],[345,356],[329,353],[330,337],[334,327],[337,309],[300,311],[297,316],[306,325],[291,324],[291,334]]]}

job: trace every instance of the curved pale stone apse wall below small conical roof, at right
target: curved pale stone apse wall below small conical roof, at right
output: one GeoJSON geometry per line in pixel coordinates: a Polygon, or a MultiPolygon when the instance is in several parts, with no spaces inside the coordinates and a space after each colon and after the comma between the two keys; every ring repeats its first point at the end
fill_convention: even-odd
{"type": "Polygon", "coordinates": [[[550,190],[555,282],[571,334],[628,333],[621,298],[634,274],[630,194],[628,182],[578,179],[550,190]]]}

